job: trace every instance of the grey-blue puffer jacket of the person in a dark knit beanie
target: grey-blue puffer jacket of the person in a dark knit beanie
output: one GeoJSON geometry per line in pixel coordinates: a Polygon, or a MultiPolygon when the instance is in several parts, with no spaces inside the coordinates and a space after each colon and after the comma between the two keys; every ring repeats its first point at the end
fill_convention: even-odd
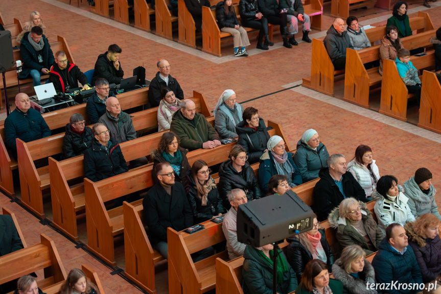
{"type": "Polygon", "coordinates": [[[435,202],[436,189],[433,185],[429,188],[429,193],[424,194],[420,186],[415,182],[415,176],[412,176],[403,184],[404,195],[409,199],[407,205],[415,218],[425,213],[432,213],[439,220],[441,215],[438,212],[438,206],[435,202]]]}

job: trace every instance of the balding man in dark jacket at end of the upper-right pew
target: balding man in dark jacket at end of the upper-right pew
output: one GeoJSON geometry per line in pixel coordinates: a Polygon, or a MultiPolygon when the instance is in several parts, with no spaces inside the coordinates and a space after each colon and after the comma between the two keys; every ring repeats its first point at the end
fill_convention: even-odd
{"type": "Polygon", "coordinates": [[[323,40],[324,47],[331,57],[332,64],[336,71],[344,70],[346,67],[346,48],[354,49],[351,44],[349,35],[344,30],[343,19],[337,17],[331,28],[326,32],[326,37],[323,40]]]}

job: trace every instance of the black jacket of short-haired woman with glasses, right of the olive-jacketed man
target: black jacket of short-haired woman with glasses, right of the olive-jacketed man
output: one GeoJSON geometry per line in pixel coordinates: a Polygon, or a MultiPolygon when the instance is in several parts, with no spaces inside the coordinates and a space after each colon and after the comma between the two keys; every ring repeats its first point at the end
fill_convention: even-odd
{"type": "Polygon", "coordinates": [[[246,125],[247,123],[245,121],[241,121],[236,125],[236,133],[239,136],[237,144],[245,148],[246,155],[248,155],[248,163],[253,164],[259,162],[259,157],[266,149],[266,143],[269,140],[269,133],[266,130],[263,119],[259,119],[257,131],[253,128],[247,127],[246,125]]]}

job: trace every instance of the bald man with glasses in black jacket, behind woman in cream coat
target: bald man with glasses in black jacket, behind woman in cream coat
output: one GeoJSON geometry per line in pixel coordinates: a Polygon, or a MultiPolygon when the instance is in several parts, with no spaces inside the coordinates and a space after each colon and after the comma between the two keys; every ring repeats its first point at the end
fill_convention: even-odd
{"type": "Polygon", "coordinates": [[[170,75],[170,63],[161,59],[157,63],[159,72],[152,79],[149,86],[149,102],[151,107],[159,106],[159,103],[163,99],[161,97],[161,90],[165,87],[172,89],[176,98],[184,100],[184,92],[181,89],[178,81],[170,75]]]}

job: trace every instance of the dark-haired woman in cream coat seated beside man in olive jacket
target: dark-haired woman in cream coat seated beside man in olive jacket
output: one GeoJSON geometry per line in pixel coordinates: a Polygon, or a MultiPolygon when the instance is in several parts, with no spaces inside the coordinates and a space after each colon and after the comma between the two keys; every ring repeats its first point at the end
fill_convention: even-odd
{"type": "Polygon", "coordinates": [[[158,107],[158,132],[170,129],[173,114],[181,108],[181,101],[175,97],[175,93],[169,87],[161,90],[163,100],[158,107]]]}

